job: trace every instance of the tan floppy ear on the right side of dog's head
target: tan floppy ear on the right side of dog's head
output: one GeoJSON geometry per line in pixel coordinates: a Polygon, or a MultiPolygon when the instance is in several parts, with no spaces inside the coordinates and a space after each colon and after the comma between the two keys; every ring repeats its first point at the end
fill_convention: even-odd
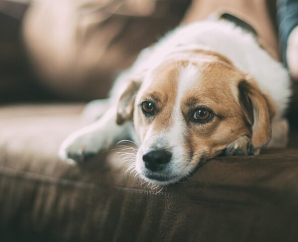
{"type": "Polygon", "coordinates": [[[252,145],[257,154],[271,138],[273,106],[252,78],[241,80],[238,88],[240,106],[246,122],[252,127],[252,145]]]}

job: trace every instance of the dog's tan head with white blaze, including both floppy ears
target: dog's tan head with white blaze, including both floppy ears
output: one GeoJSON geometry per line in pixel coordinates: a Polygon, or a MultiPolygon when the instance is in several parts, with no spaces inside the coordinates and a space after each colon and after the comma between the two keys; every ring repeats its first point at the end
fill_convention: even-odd
{"type": "Polygon", "coordinates": [[[133,119],[140,141],[137,171],[163,185],[188,176],[241,137],[249,141],[240,147],[244,153],[249,146],[257,152],[271,135],[269,104],[254,80],[227,58],[185,51],[130,83],[117,123],[133,119]]]}

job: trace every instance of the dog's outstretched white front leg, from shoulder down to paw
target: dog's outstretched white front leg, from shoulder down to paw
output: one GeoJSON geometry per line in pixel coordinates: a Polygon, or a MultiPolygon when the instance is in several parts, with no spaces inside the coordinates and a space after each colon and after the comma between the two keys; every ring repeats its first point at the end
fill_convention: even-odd
{"type": "Polygon", "coordinates": [[[122,126],[116,124],[116,107],[113,106],[96,122],[66,138],[59,148],[59,157],[84,162],[109,148],[116,139],[129,136],[129,125],[129,122],[122,126]]]}

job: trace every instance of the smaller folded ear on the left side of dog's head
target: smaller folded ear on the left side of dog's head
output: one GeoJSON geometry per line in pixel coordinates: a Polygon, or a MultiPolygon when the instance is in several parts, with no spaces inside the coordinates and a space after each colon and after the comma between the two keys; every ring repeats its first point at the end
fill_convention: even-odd
{"type": "Polygon", "coordinates": [[[141,82],[131,81],[120,96],[117,107],[117,125],[122,125],[127,120],[132,119],[135,97],[140,86],[141,82]]]}

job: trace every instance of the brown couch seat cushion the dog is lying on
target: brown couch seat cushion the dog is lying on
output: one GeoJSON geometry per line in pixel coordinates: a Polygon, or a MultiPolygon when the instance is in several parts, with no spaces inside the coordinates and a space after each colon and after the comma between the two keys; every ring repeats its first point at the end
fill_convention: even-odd
{"type": "Polygon", "coordinates": [[[82,167],[57,158],[81,108],[0,108],[3,241],[296,241],[296,144],[215,158],[160,191],[124,176],[114,152],[82,167]]]}

